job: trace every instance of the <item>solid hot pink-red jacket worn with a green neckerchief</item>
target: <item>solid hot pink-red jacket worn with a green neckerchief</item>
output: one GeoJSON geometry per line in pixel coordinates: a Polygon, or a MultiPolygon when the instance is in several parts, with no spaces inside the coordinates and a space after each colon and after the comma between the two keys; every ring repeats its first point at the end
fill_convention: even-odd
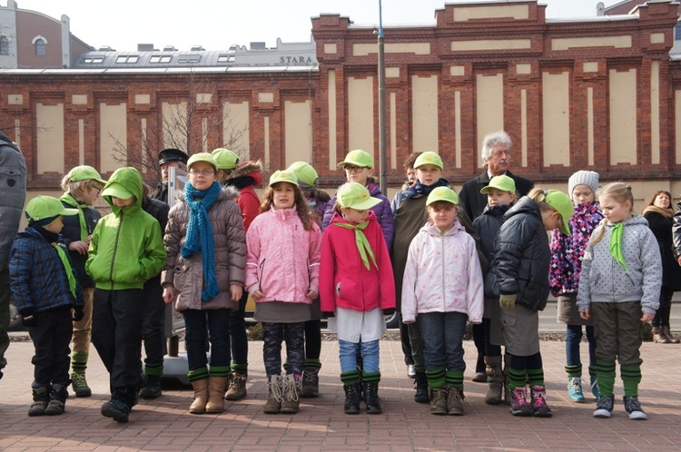
{"type": "Polygon", "coordinates": [[[369,256],[370,270],[364,266],[357,249],[355,231],[334,226],[347,223],[334,213],[321,242],[320,300],[322,312],[334,312],[336,307],[368,311],[395,309],[395,280],[390,254],[383,231],[373,211],[364,235],[376,258],[378,270],[369,256]]]}

